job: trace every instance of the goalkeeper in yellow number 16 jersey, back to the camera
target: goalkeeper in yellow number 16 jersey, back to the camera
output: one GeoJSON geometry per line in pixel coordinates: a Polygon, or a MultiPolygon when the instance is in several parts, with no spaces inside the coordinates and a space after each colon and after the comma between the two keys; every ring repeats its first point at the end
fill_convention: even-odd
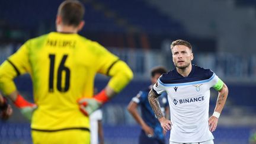
{"type": "Polygon", "coordinates": [[[79,36],[84,6],[64,1],[56,17],[57,32],[26,41],[0,67],[0,91],[31,119],[33,143],[88,143],[89,117],[133,78],[119,57],[97,42],[79,36]],[[17,91],[13,79],[29,73],[34,104],[17,91]],[[93,97],[96,73],[110,76],[93,97]]]}

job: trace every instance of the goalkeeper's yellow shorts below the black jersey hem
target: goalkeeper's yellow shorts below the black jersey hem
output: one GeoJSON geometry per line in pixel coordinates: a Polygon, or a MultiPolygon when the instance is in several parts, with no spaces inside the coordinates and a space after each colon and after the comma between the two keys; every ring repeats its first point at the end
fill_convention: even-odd
{"type": "Polygon", "coordinates": [[[89,144],[90,133],[88,130],[68,129],[56,132],[41,132],[31,130],[34,144],[89,144]]]}

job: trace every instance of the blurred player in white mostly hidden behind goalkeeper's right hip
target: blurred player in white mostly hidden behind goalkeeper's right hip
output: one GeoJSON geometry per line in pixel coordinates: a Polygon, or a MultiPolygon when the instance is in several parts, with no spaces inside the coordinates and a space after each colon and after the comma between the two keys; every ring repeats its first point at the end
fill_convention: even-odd
{"type": "MultiPolygon", "coordinates": [[[[94,95],[98,93],[98,89],[94,88],[94,95]]],[[[103,112],[101,109],[95,110],[89,116],[91,125],[91,144],[104,144],[103,135],[103,112]]]]}

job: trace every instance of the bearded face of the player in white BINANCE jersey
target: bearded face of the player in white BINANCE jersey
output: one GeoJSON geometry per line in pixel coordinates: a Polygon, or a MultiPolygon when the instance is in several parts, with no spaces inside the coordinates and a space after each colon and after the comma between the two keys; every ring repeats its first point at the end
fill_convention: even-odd
{"type": "Polygon", "coordinates": [[[172,61],[177,68],[187,68],[193,58],[193,53],[187,46],[177,45],[172,48],[172,61]]]}

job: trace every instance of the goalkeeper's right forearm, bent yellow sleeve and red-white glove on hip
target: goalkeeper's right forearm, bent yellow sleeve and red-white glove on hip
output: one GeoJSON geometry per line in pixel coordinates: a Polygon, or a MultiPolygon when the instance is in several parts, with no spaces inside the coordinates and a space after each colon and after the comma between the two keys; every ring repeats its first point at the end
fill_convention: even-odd
{"type": "Polygon", "coordinates": [[[109,101],[114,95],[118,94],[133,78],[133,72],[127,66],[126,63],[119,60],[110,69],[109,75],[111,76],[110,81],[107,86],[94,98],[81,98],[78,103],[80,105],[80,110],[85,115],[91,114],[93,111],[97,110],[102,104],[109,101]]]}

